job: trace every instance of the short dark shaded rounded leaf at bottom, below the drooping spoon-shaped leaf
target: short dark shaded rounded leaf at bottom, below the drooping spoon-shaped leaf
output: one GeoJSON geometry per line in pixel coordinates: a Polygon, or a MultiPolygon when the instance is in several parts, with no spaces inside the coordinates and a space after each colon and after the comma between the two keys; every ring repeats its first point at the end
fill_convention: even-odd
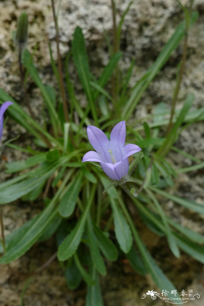
{"type": "Polygon", "coordinates": [[[65,279],[70,290],[75,290],[81,283],[81,274],[73,260],[71,265],[65,270],[65,279]]]}

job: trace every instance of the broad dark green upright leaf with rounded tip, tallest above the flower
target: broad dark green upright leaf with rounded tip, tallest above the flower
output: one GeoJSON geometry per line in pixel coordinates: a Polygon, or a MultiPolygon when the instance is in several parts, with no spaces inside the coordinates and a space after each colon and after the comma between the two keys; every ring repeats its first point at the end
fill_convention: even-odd
{"type": "Polygon", "coordinates": [[[84,42],[84,37],[81,28],[77,27],[75,29],[73,40],[72,40],[72,50],[73,50],[73,58],[74,63],[83,86],[83,89],[86,93],[87,99],[90,103],[91,112],[93,115],[93,119],[95,124],[98,125],[97,111],[93,98],[93,91],[91,88],[91,73],[89,70],[89,63],[87,58],[87,52],[84,42]]]}

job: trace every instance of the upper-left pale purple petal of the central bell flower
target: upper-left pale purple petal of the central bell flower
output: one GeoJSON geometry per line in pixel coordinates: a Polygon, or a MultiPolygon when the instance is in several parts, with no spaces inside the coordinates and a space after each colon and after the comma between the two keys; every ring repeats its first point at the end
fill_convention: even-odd
{"type": "Polygon", "coordinates": [[[87,127],[87,135],[92,147],[94,147],[100,156],[101,161],[112,163],[109,153],[110,142],[104,132],[95,126],[89,125],[87,127]]]}

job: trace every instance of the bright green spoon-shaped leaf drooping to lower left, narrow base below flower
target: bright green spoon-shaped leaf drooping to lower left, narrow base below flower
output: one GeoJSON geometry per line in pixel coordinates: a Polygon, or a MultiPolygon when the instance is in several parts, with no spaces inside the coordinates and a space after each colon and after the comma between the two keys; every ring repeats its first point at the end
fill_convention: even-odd
{"type": "Polygon", "coordinates": [[[84,226],[86,223],[89,209],[91,207],[91,203],[93,201],[94,194],[95,194],[95,187],[93,187],[91,190],[90,198],[87,203],[87,207],[85,211],[83,212],[83,215],[78,220],[75,228],[65,238],[65,240],[62,242],[62,244],[58,248],[57,257],[59,260],[64,261],[66,259],[69,259],[77,250],[80,244],[83,232],[84,232],[84,226]]]}

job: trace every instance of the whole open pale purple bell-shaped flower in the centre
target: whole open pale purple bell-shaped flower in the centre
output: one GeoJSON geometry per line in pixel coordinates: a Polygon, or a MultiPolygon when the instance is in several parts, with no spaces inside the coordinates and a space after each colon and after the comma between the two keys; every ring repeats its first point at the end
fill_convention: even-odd
{"type": "Polygon", "coordinates": [[[87,152],[82,162],[100,162],[103,171],[113,180],[121,180],[128,174],[128,157],[141,149],[135,144],[125,145],[125,121],[113,128],[110,141],[104,132],[92,125],[87,127],[87,135],[96,152],[87,152]]]}

